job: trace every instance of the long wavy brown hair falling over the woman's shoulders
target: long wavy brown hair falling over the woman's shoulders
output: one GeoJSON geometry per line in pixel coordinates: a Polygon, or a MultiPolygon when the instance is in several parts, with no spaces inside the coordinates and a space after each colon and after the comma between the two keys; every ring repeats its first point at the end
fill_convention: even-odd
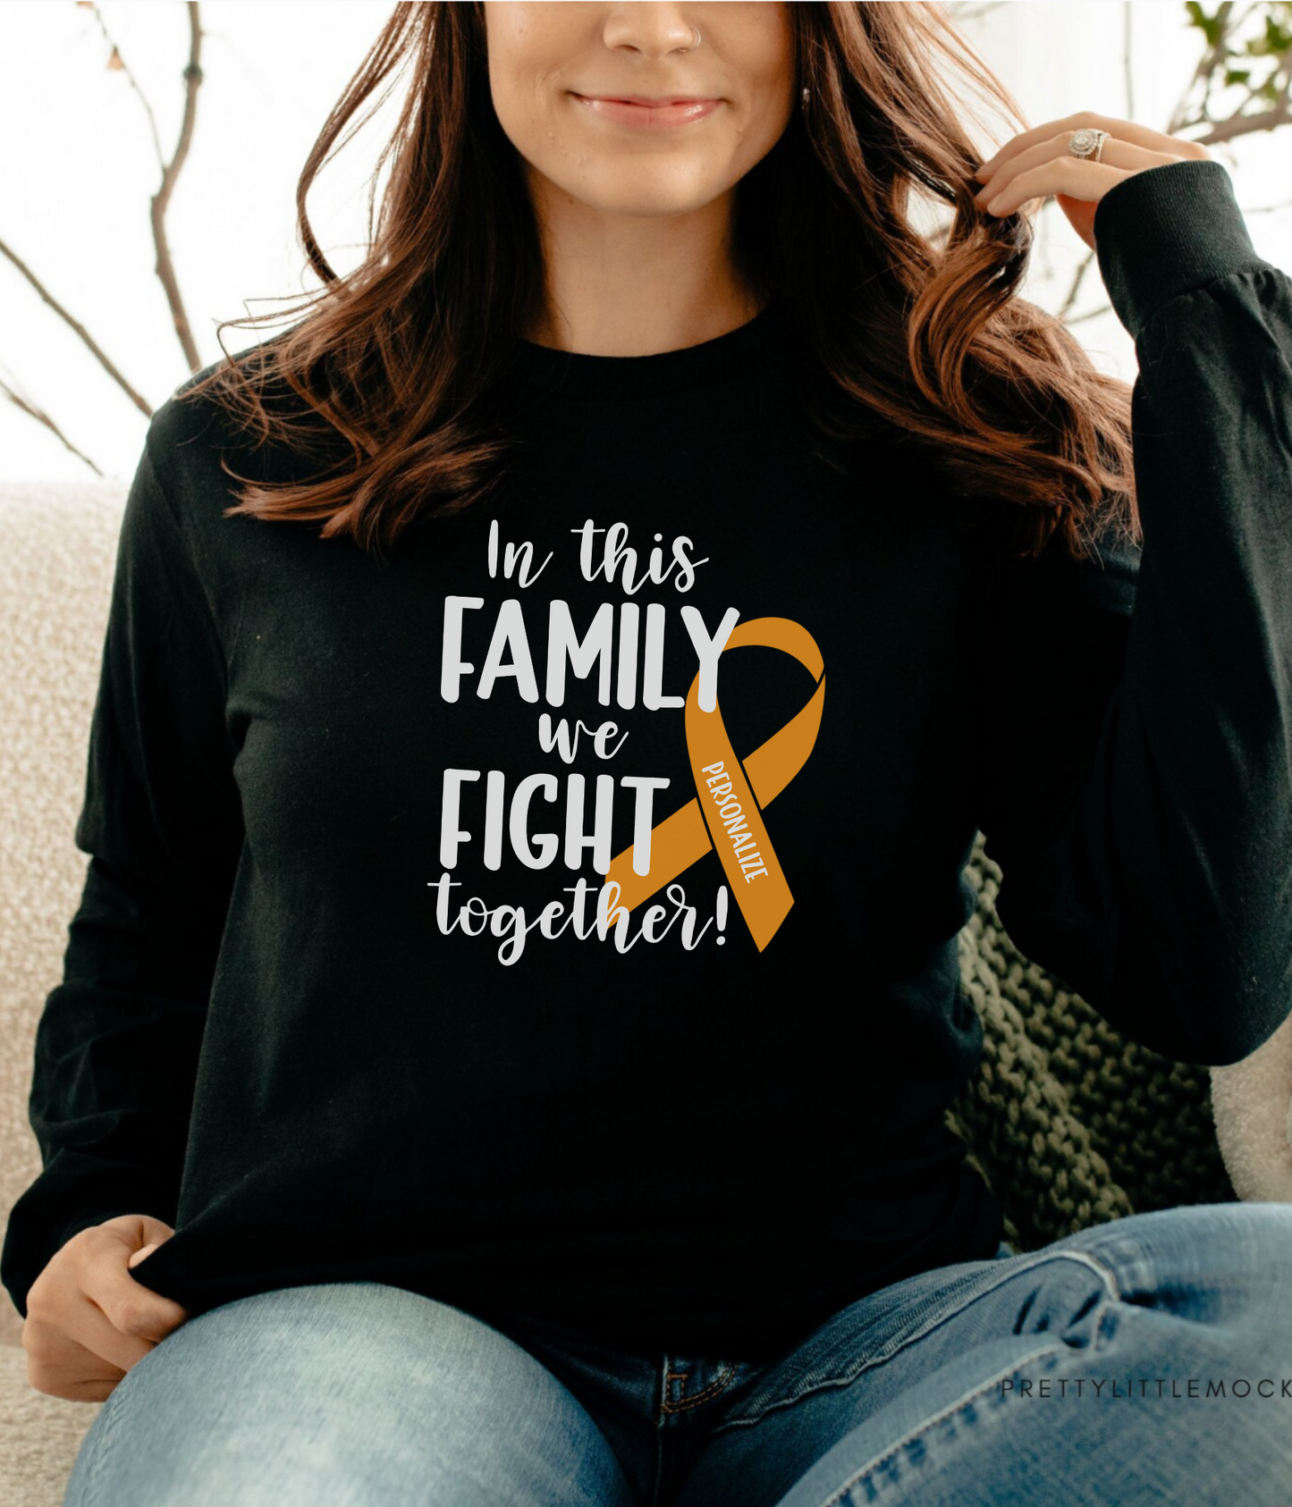
{"type": "MultiPolygon", "coordinates": [[[[734,255],[794,332],[823,452],[896,426],[966,505],[1007,505],[1015,553],[1060,532],[1084,558],[1110,518],[1138,541],[1131,389],[1016,297],[1031,225],[974,206],[968,90],[942,75],[1025,130],[1013,96],[938,5],[829,0],[788,15],[810,105],[737,184],[734,255]],[[953,211],[942,235],[912,222],[921,193],[953,211]]],[[[538,232],[493,110],[479,5],[395,6],[309,154],[297,226],[321,282],[300,295],[305,316],[237,356],[225,329],[282,315],[223,321],[223,360],[182,396],[210,392],[258,445],[318,460],[286,481],[238,476],[228,512],[323,520],[324,536],[380,553],[410,521],[458,512],[498,484],[510,440],[490,393],[541,307],[538,232]],[[339,276],[306,197],[404,74],[371,179],[366,255],[339,276]]]]}

